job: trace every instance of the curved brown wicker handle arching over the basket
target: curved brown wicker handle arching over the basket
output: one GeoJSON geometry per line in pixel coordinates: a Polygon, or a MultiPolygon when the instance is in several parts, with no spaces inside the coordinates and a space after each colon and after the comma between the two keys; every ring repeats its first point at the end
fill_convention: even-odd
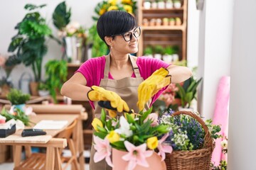
{"type": "Polygon", "coordinates": [[[177,111],[173,113],[171,116],[176,116],[176,115],[189,115],[192,118],[195,118],[198,123],[200,123],[203,127],[203,130],[205,131],[205,137],[204,137],[204,145],[203,147],[211,147],[213,149],[213,139],[210,137],[210,132],[208,127],[206,126],[206,123],[195,113],[192,113],[190,111],[177,111]]]}

